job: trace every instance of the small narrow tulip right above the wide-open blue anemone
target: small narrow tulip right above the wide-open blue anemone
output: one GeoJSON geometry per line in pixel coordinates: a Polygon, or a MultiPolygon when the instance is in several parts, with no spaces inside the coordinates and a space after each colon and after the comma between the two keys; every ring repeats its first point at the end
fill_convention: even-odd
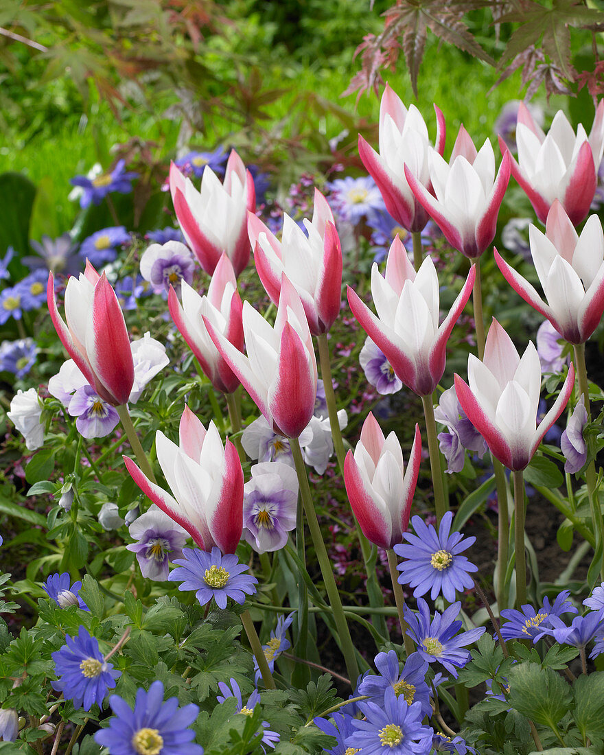
{"type": "Polygon", "coordinates": [[[361,439],[344,461],[344,484],[365,538],[381,548],[402,543],[407,532],[411,503],[421,462],[421,436],[415,436],[405,471],[396,435],[384,438],[371,411],[363,423],[361,439]]]}

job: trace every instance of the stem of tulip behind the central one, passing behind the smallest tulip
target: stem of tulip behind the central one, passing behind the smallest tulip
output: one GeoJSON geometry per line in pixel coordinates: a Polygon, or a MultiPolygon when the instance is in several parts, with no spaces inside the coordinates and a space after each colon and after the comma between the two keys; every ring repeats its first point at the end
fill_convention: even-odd
{"type": "MultiPolygon", "coordinates": [[[[325,402],[329,414],[329,427],[331,428],[331,437],[334,440],[334,451],[337,458],[337,466],[340,467],[340,475],[344,478],[344,439],[340,429],[340,422],[337,420],[337,403],[335,399],[334,384],[331,378],[331,357],[329,355],[329,344],[327,334],[321,334],[317,337],[319,342],[319,363],[321,365],[321,377],[323,387],[325,387],[325,402]]],[[[365,573],[367,574],[367,594],[369,605],[374,608],[384,606],[384,596],[381,591],[375,566],[371,566],[371,545],[365,535],[363,535],[359,522],[353,512],[356,536],[359,538],[359,545],[365,564],[365,573]]],[[[377,630],[384,636],[388,636],[386,620],[379,618],[377,620],[377,630]]]]}

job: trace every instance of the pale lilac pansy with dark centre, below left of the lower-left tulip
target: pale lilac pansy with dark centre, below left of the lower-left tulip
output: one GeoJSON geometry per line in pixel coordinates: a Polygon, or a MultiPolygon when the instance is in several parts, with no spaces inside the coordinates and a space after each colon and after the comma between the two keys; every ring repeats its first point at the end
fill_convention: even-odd
{"type": "Polygon", "coordinates": [[[137,542],[126,548],[137,554],[143,577],[165,582],[170,571],[168,561],[182,558],[183,546],[189,535],[155,504],[134,519],[128,532],[137,542]]]}

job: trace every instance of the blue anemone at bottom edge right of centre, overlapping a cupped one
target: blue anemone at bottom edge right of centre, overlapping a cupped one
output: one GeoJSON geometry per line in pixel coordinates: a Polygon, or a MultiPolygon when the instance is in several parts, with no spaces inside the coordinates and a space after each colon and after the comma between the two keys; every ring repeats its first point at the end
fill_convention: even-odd
{"type": "Polygon", "coordinates": [[[362,755],[426,755],[432,744],[433,729],[424,726],[421,703],[408,705],[389,688],[384,706],[359,702],[365,720],[353,720],[356,732],[347,738],[348,747],[359,748],[362,755]],[[388,747],[388,750],[384,750],[388,747]]]}

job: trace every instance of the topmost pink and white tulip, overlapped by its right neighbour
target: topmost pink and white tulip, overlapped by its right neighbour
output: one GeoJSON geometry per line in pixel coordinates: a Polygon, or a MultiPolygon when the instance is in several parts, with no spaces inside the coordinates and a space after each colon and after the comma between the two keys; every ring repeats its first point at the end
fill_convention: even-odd
{"type": "MultiPolygon", "coordinates": [[[[445,149],[445,119],[436,105],[436,151],[445,149]]],[[[359,135],[363,165],[381,191],[387,211],[397,223],[411,232],[421,231],[428,222],[427,212],[411,191],[405,165],[416,180],[430,190],[428,154],[433,149],[428,129],[419,110],[407,109],[400,97],[386,85],[380,104],[379,153],[359,135]]]]}

